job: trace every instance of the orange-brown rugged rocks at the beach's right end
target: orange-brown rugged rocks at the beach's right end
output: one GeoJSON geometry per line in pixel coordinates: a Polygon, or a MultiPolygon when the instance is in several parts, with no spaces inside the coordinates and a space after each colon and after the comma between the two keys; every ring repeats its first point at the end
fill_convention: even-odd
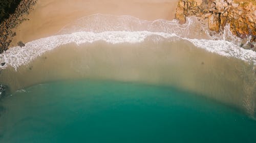
{"type": "Polygon", "coordinates": [[[255,0],[180,0],[176,18],[183,24],[187,16],[208,19],[209,30],[217,33],[229,24],[232,34],[256,41],[255,0]]]}

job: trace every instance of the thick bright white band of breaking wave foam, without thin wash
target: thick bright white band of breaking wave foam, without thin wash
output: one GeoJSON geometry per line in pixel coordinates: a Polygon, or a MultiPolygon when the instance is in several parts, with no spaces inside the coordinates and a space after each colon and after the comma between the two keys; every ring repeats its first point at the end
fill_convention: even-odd
{"type": "MultiPolygon", "coordinates": [[[[189,39],[182,38],[176,34],[168,34],[163,32],[128,32],[128,31],[106,31],[101,33],[93,32],[76,32],[72,34],[56,35],[47,38],[41,38],[35,41],[26,43],[25,47],[13,47],[0,54],[1,62],[5,62],[4,69],[8,66],[15,70],[19,66],[27,65],[38,56],[46,51],[52,50],[63,44],[76,43],[77,45],[83,43],[93,43],[95,41],[105,41],[111,44],[118,43],[139,43],[143,42],[149,36],[161,36],[164,39],[176,37],[183,40],[188,40],[199,48],[203,48],[209,52],[218,53],[227,57],[234,57],[246,62],[253,62],[256,65],[256,52],[246,50],[232,44],[225,40],[205,40],[205,39],[189,39]]],[[[159,38],[158,38],[159,40],[159,38]]]]}

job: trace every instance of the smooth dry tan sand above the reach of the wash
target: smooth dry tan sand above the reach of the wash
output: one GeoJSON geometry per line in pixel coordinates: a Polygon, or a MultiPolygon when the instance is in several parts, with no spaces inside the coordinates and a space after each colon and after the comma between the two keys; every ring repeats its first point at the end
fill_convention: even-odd
{"type": "Polygon", "coordinates": [[[20,24],[11,46],[56,34],[68,23],[92,14],[131,15],[143,20],[175,17],[178,0],[38,0],[30,20],[20,24]]]}

